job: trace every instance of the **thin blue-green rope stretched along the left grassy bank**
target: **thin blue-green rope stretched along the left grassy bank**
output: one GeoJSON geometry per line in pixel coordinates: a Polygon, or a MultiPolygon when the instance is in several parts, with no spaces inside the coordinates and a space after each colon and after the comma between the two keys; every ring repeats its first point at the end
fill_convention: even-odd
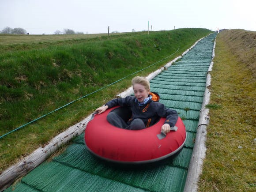
{"type": "MultiPolygon", "coordinates": [[[[179,49],[180,49],[180,47],[178,47],[177,51],[178,51],[179,49]]],[[[177,53],[177,51],[176,51],[175,53],[177,53]]],[[[80,99],[82,99],[82,98],[86,98],[86,97],[88,97],[89,95],[94,94],[94,93],[96,93],[96,92],[98,92],[98,91],[100,91],[100,90],[102,90],[102,89],[105,89],[106,87],[109,87],[109,86],[111,86],[111,85],[113,85],[113,84],[115,84],[115,83],[118,83],[118,82],[120,82],[121,80],[123,80],[123,79],[125,79],[125,78],[127,78],[127,77],[129,77],[129,76],[135,75],[135,74],[138,73],[138,72],[141,72],[141,71],[143,71],[143,70],[145,70],[145,69],[147,69],[147,68],[150,68],[150,67],[152,67],[153,65],[158,64],[158,63],[160,63],[160,62],[163,61],[163,60],[166,60],[167,58],[169,58],[170,56],[174,55],[175,53],[173,53],[173,54],[171,54],[171,55],[169,55],[169,56],[166,56],[164,59],[159,60],[159,61],[157,61],[156,63],[147,66],[146,68],[143,68],[143,69],[141,69],[141,70],[139,70],[139,71],[137,71],[137,72],[134,72],[134,73],[132,73],[132,74],[130,74],[130,75],[127,75],[127,76],[125,76],[125,77],[123,77],[123,78],[121,78],[121,79],[119,79],[119,80],[117,80],[117,81],[115,81],[115,82],[113,82],[113,83],[110,83],[109,85],[106,85],[105,87],[102,87],[102,88],[100,88],[100,89],[98,89],[98,90],[95,90],[95,91],[91,92],[90,94],[87,94],[87,95],[84,95],[84,96],[81,97],[81,98],[75,99],[74,101],[69,102],[68,104],[63,105],[63,106],[59,107],[58,109],[55,109],[55,110],[53,110],[53,111],[51,111],[51,112],[49,112],[49,113],[47,113],[47,114],[45,114],[45,115],[43,115],[43,116],[41,116],[41,117],[38,117],[37,119],[34,119],[34,120],[32,120],[32,121],[30,121],[30,122],[28,122],[28,123],[26,123],[26,124],[23,124],[22,126],[20,126],[20,127],[18,127],[18,128],[15,128],[14,130],[12,130],[12,131],[10,131],[10,132],[8,132],[8,133],[6,133],[6,134],[0,136],[0,139],[3,138],[4,136],[7,136],[8,134],[10,134],[10,133],[12,133],[12,132],[15,132],[15,131],[17,131],[17,130],[23,128],[23,127],[25,127],[25,126],[28,125],[28,124],[34,123],[35,121],[37,121],[37,120],[39,120],[39,119],[42,119],[42,118],[46,117],[47,115],[49,115],[49,114],[51,114],[51,113],[54,113],[54,112],[56,112],[56,111],[58,111],[58,110],[60,110],[60,109],[62,109],[62,108],[64,108],[64,107],[66,107],[66,106],[68,106],[68,105],[74,103],[74,102],[77,102],[78,100],[80,100],[80,99]]]]}

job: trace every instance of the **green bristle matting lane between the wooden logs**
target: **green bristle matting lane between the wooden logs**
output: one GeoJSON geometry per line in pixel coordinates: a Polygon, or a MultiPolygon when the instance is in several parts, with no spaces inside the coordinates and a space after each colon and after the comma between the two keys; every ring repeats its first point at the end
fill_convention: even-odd
{"type": "Polygon", "coordinates": [[[151,91],[160,95],[160,102],[166,107],[177,110],[186,126],[187,140],[176,156],[151,167],[117,167],[90,154],[82,134],[73,139],[64,153],[42,163],[6,191],[183,191],[215,36],[211,34],[199,41],[151,80],[151,91]]]}

